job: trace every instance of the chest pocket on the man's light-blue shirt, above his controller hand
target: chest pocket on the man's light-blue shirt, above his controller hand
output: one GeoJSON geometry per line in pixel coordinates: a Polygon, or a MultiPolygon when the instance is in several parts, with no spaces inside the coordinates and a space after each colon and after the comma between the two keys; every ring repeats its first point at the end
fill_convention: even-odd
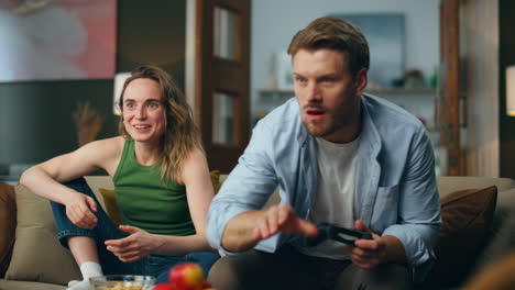
{"type": "Polygon", "coordinates": [[[386,227],[397,223],[398,185],[379,187],[372,211],[371,228],[381,234],[386,227]]]}

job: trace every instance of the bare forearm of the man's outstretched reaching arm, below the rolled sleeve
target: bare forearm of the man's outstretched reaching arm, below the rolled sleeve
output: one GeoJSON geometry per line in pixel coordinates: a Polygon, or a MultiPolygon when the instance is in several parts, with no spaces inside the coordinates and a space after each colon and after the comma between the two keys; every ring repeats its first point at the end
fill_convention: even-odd
{"type": "Polygon", "coordinates": [[[223,231],[221,246],[229,252],[243,252],[255,246],[259,241],[254,239],[253,231],[263,211],[248,211],[231,219],[223,231]]]}

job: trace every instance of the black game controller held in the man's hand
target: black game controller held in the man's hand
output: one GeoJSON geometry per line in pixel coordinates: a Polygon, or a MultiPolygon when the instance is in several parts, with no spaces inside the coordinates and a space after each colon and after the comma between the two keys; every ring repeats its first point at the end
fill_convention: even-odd
{"type": "Polygon", "coordinates": [[[355,230],[349,230],[340,227],[330,223],[320,223],[317,225],[318,235],[317,236],[304,236],[303,245],[307,247],[314,247],[326,239],[333,239],[347,245],[354,245],[357,239],[372,239],[370,233],[360,232],[355,230]]]}

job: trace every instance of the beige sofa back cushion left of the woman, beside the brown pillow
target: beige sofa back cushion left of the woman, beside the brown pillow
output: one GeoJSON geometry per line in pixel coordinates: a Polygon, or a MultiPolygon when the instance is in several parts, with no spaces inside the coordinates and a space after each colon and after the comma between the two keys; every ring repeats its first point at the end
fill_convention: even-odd
{"type": "Polygon", "coordinates": [[[17,239],[6,278],[66,285],[81,279],[72,254],[57,241],[50,202],[15,186],[17,239]]]}

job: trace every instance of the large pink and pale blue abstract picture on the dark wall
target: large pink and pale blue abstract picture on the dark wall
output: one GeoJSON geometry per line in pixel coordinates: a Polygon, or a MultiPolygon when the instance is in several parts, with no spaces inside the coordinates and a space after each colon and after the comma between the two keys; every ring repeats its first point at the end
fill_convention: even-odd
{"type": "Polygon", "coordinates": [[[105,79],[117,0],[0,0],[0,81],[105,79]]]}

